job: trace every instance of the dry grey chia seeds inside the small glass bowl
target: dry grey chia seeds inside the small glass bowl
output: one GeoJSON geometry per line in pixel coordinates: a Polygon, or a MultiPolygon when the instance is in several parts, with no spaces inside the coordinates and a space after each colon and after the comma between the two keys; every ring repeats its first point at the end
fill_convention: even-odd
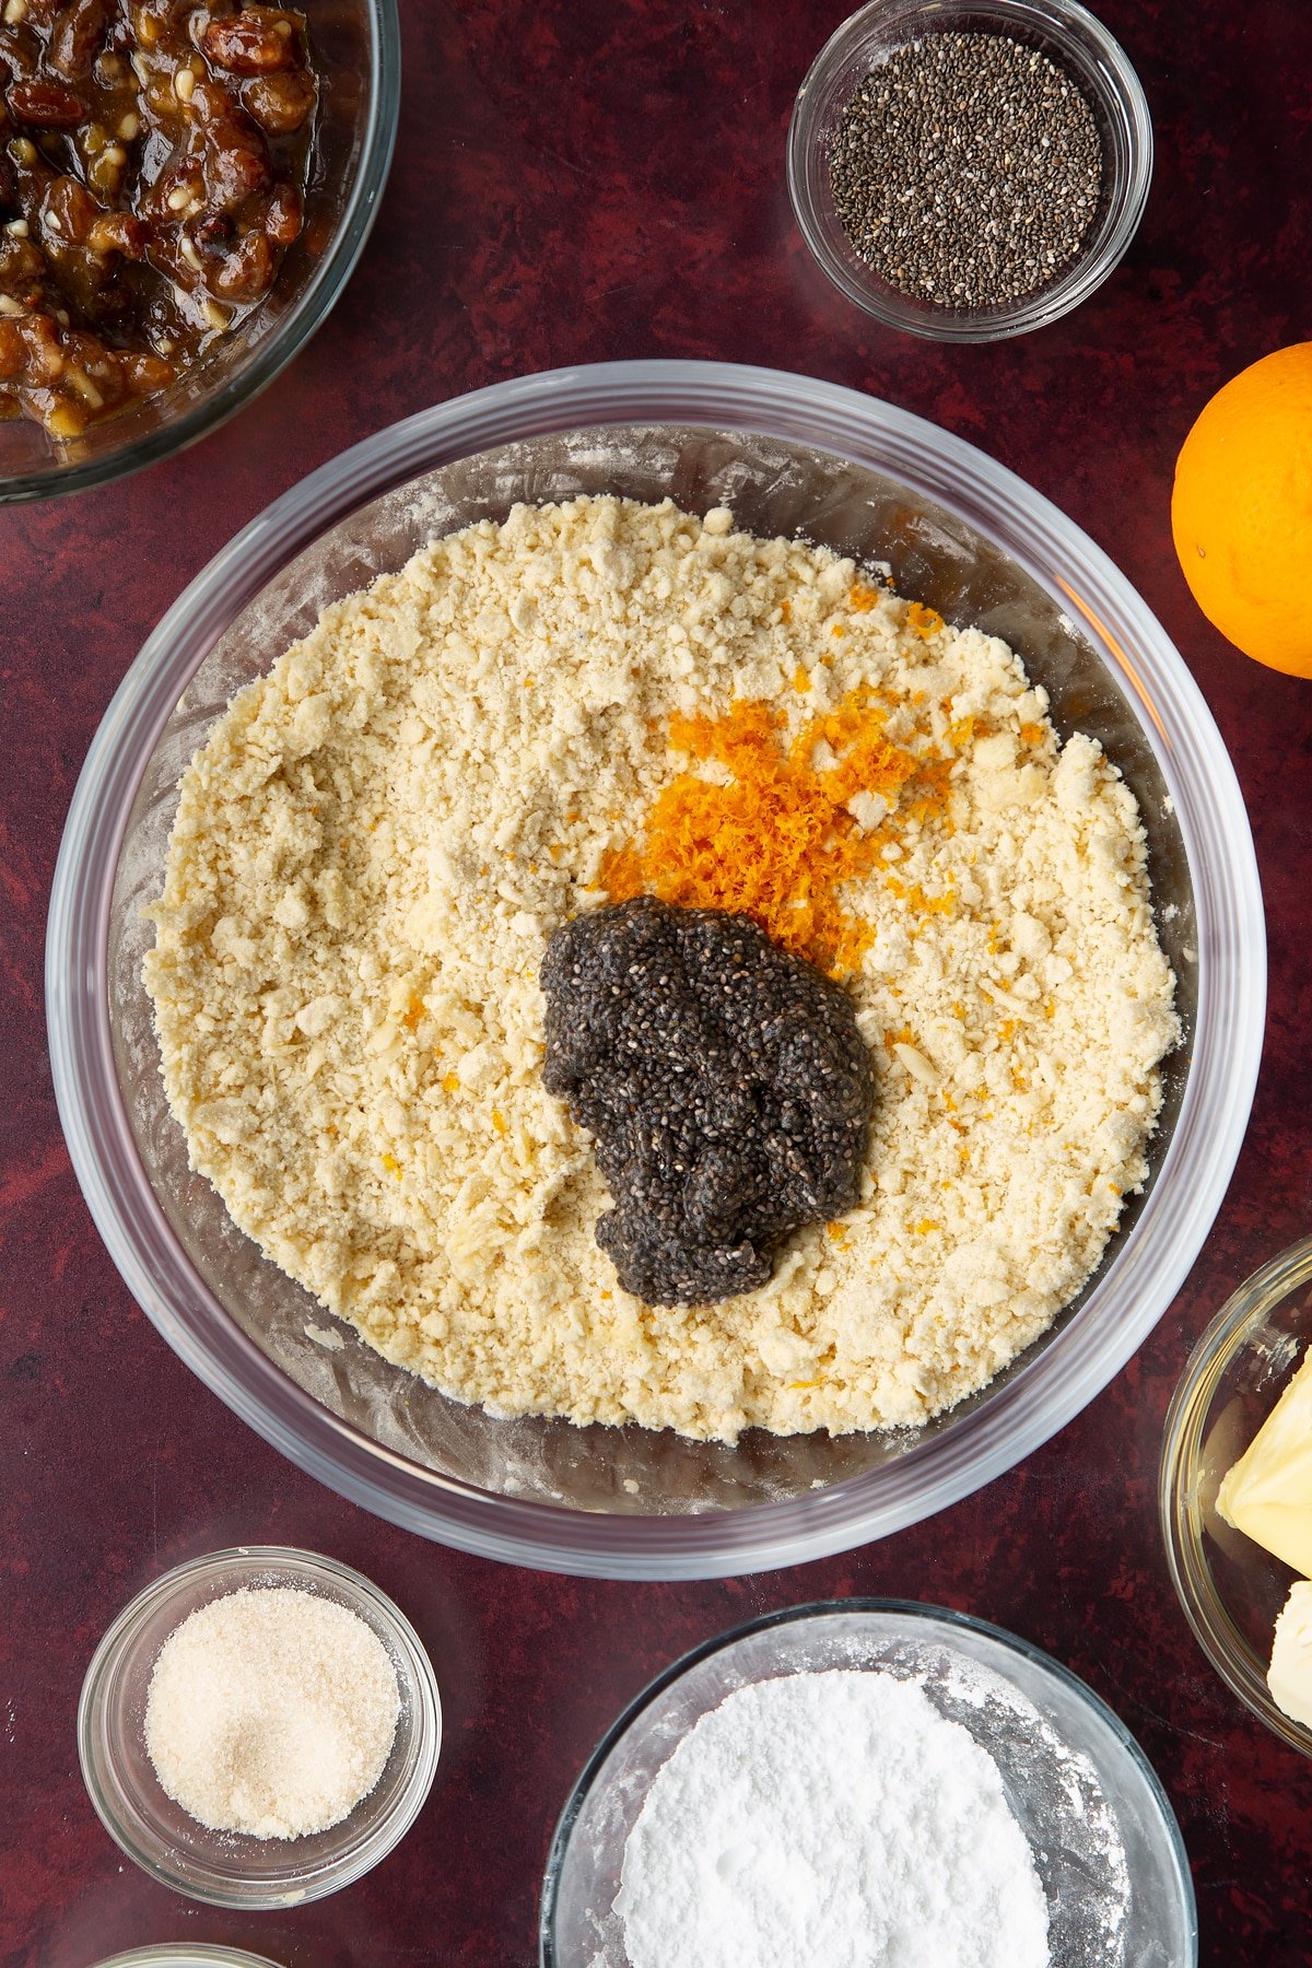
{"type": "Polygon", "coordinates": [[[1102,138],[1078,83],[999,33],[928,33],[854,91],[830,146],[854,248],[893,287],[987,307],[1046,287],[1098,211],[1102,138]]]}

